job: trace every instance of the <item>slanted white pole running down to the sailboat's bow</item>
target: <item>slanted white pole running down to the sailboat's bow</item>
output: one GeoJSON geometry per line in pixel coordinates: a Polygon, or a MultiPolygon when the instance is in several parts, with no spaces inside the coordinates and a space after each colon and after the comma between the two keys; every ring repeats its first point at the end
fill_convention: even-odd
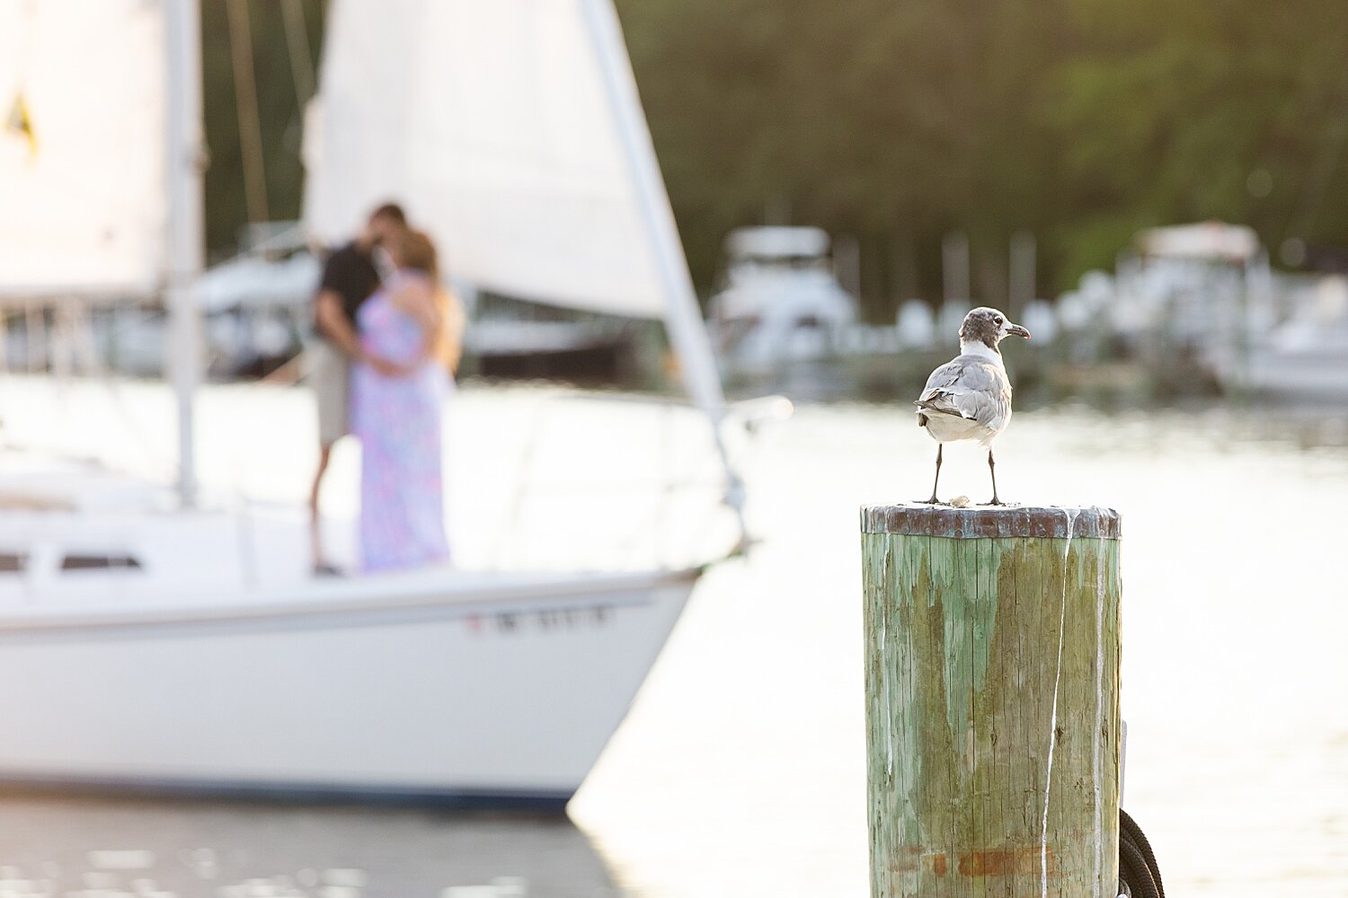
{"type": "Polygon", "coordinates": [[[725,415],[725,396],[721,393],[721,378],[712,355],[712,343],[706,337],[693,276],[687,269],[683,242],[678,236],[678,223],[665,193],[665,179],[661,176],[659,162],[655,158],[655,144],[651,140],[646,113],[642,109],[640,94],[636,90],[636,77],[627,57],[623,28],[617,11],[611,0],[580,0],[594,43],[600,71],[608,101],[617,121],[619,139],[627,158],[632,180],[636,184],[638,205],[651,237],[655,263],[665,288],[665,327],[670,343],[679,358],[679,370],[693,401],[706,413],[712,424],[716,451],[725,469],[725,504],[729,505],[740,525],[741,540],[748,539],[744,521],[744,485],[739,473],[731,464],[731,458],[721,436],[721,419],[725,415]]]}

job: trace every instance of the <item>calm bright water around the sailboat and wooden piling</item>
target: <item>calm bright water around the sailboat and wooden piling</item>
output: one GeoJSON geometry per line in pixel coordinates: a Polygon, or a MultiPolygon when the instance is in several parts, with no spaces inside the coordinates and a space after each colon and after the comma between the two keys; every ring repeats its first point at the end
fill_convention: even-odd
{"type": "MultiPolygon", "coordinates": [[[[155,388],[0,381],[7,440],[146,474],[167,470],[168,408],[155,388]]],[[[679,409],[477,388],[452,421],[464,564],[628,565],[728,534],[679,409]],[[562,526],[577,509],[584,526],[562,526]]],[[[303,497],[303,392],[214,388],[201,429],[220,493],[303,497]]],[[[865,895],[856,509],[925,495],[934,447],[906,411],[832,405],[740,448],[763,543],[705,578],[570,821],[16,796],[0,800],[0,895],[865,895]]],[[[1050,408],[1018,413],[998,448],[1004,498],[1123,513],[1124,806],[1167,887],[1348,894],[1348,411],[1050,408]]],[[[355,448],[334,464],[340,541],[355,448]]],[[[987,489],[973,450],[946,452],[944,495],[987,489]]]]}

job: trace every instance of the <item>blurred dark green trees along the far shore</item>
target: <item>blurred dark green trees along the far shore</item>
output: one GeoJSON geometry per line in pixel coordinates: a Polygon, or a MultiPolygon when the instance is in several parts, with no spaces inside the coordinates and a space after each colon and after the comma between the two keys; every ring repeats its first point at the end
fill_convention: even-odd
{"type": "MultiPolygon", "coordinates": [[[[204,4],[209,241],[248,219],[228,0],[204,4]]],[[[271,218],[299,213],[283,3],[251,0],[271,218]]],[[[303,0],[313,59],[322,0],[303,0]]],[[[1348,5],[1333,0],[617,0],[694,277],[737,225],[860,246],[863,311],[941,296],[968,237],[973,298],[1004,303],[1014,234],[1051,296],[1146,226],[1254,226],[1348,245],[1348,5]]],[[[237,24],[236,24],[237,34],[237,24]]],[[[294,32],[291,32],[291,38],[294,32]]],[[[1297,261],[1290,244],[1289,261],[1297,261]]]]}

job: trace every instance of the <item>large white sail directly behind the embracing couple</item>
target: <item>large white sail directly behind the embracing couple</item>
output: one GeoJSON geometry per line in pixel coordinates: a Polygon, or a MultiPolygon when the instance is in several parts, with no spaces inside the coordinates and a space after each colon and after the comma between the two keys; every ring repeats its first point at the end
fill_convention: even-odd
{"type": "Polygon", "coordinates": [[[620,129],[585,0],[337,0],[305,221],[338,241],[395,199],[476,285],[661,318],[620,129]]]}

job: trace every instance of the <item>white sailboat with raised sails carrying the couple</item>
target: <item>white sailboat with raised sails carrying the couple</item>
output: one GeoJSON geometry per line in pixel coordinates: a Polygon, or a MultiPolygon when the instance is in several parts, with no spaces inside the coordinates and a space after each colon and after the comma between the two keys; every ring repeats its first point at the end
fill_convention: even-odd
{"type": "MultiPolygon", "coordinates": [[[[609,0],[336,0],[329,23],[306,139],[314,233],[350,233],[396,198],[477,287],[663,319],[725,459],[720,382],[609,0]]],[[[0,781],[562,806],[704,568],[268,583],[283,541],[260,533],[243,557],[194,474],[198,34],[197,0],[0,0],[0,40],[32,42],[0,59],[40,58],[0,69],[0,102],[31,109],[31,135],[0,147],[0,295],[164,295],[179,415],[171,510],[74,495],[0,513],[0,781]],[[100,78],[71,74],[93,48],[100,78]],[[96,149],[112,160],[78,127],[100,102],[96,149]],[[75,176],[82,193],[61,188],[75,176]],[[94,223],[53,249],[11,197],[94,223]],[[32,264],[13,268],[20,238],[32,264]]]]}

